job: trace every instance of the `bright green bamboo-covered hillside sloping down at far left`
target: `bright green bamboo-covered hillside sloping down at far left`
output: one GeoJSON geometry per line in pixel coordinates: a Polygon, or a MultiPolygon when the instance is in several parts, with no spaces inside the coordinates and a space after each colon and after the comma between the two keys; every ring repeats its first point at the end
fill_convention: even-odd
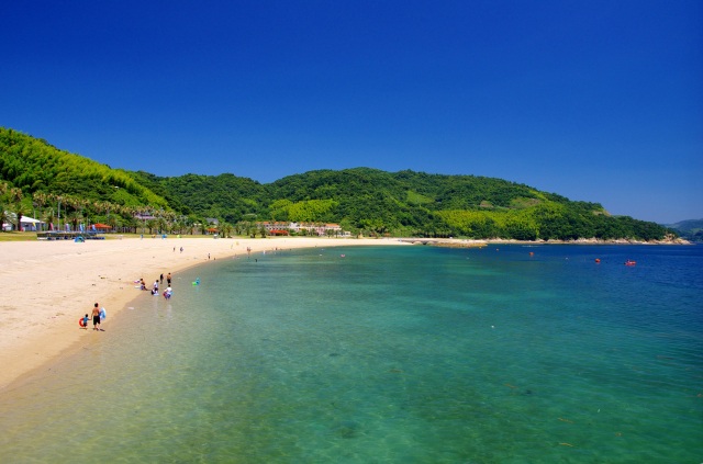
{"type": "MultiPolygon", "coordinates": [[[[121,169],[60,150],[46,140],[0,127],[0,219],[19,228],[23,216],[46,224],[105,222],[135,229],[137,217],[167,212],[168,202],[121,169]]],[[[150,216],[149,216],[150,217],[150,216]]],[[[144,225],[145,222],[142,220],[144,225]]]]}

